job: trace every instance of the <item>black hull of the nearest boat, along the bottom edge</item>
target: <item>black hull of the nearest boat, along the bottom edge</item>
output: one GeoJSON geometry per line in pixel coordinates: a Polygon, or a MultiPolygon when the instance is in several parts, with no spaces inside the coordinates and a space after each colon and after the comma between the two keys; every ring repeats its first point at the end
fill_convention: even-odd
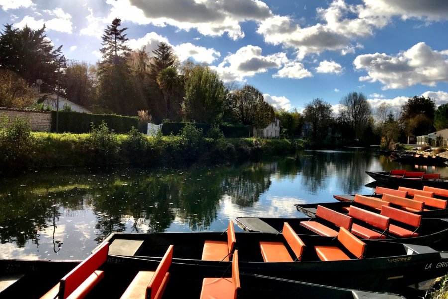
{"type": "MultiPolygon", "coordinates": [[[[1,298],[40,298],[63,276],[78,266],[81,261],[57,260],[8,260],[0,259],[1,298]]],[[[125,264],[103,263],[98,270],[104,272],[102,280],[88,292],[87,298],[120,298],[141,269],[125,264]]],[[[201,275],[193,277],[168,269],[170,276],[163,298],[199,298],[201,275]]],[[[196,274],[198,271],[196,271],[196,274]]],[[[212,275],[221,276],[223,273],[212,275]]],[[[336,299],[404,299],[391,293],[377,293],[344,289],[294,280],[240,273],[241,289],[238,298],[336,298],[336,299]],[[303,294],[303,296],[298,296],[303,294]]]]}

